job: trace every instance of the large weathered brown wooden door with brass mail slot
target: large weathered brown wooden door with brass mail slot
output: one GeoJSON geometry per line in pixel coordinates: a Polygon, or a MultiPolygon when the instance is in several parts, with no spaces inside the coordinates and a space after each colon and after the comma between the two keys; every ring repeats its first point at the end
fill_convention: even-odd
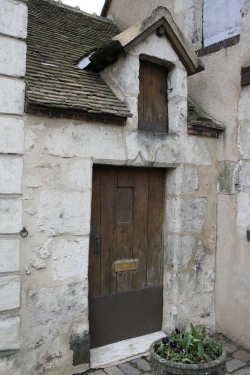
{"type": "Polygon", "coordinates": [[[164,169],[93,167],[92,348],[161,330],[164,186],[164,169]]]}

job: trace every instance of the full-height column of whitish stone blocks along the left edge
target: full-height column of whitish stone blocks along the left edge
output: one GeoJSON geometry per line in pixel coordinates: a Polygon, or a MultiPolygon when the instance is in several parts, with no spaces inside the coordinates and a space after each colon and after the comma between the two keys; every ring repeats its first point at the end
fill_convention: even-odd
{"type": "Polygon", "coordinates": [[[25,0],[0,1],[0,373],[19,375],[25,0]]]}

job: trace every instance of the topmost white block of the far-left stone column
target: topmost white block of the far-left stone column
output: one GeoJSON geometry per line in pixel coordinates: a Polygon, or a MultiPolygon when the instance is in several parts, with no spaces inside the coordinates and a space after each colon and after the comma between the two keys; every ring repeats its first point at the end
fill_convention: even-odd
{"type": "Polygon", "coordinates": [[[24,2],[0,0],[0,33],[25,39],[28,10],[24,2]]]}

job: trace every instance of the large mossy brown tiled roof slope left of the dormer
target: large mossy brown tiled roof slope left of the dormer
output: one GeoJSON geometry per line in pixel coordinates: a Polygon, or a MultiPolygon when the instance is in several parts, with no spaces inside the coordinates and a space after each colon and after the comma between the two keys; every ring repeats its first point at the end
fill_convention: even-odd
{"type": "Polygon", "coordinates": [[[83,56],[120,32],[109,20],[53,0],[29,0],[26,101],[64,111],[129,116],[126,104],[99,73],[77,67],[83,56]]]}

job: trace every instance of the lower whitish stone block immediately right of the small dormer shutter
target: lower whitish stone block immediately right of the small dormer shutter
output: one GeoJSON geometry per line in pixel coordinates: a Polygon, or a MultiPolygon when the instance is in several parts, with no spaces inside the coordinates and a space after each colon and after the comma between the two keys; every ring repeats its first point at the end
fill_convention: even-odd
{"type": "Polygon", "coordinates": [[[187,98],[175,96],[167,105],[169,133],[187,133],[187,98]]]}

